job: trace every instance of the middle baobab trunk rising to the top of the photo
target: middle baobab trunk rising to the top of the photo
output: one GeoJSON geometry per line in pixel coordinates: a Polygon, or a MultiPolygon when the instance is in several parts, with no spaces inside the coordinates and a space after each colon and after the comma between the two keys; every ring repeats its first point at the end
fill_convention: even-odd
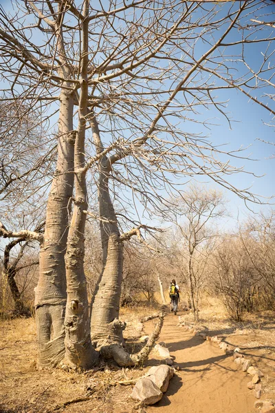
{"type": "MultiPolygon", "coordinates": [[[[89,0],[85,0],[83,14],[89,14],[89,0]]],[[[87,210],[87,188],[85,169],[85,131],[87,122],[88,100],[88,25],[85,19],[82,25],[80,98],[78,104],[78,130],[74,146],[75,166],[75,201],[72,222],[69,227],[67,242],[66,277],[67,306],[65,314],[65,359],[63,363],[69,368],[87,370],[96,363],[98,353],[91,346],[89,325],[89,306],[87,297],[87,282],[84,273],[85,253],[85,222],[87,210]]]]}

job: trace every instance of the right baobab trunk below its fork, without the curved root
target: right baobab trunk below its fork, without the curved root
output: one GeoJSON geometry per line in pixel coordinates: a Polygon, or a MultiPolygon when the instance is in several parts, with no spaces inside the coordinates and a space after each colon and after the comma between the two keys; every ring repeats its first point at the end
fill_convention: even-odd
{"type": "Polygon", "coordinates": [[[122,284],[123,245],[109,195],[109,171],[100,162],[98,200],[104,270],[91,313],[91,337],[96,346],[123,342],[124,324],[118,320],[122,284]]]}

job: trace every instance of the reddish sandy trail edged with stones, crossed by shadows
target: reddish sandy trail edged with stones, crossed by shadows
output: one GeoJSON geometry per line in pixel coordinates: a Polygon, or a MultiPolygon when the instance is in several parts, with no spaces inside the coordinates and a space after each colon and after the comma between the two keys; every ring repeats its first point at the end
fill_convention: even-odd
{"type": "MultiPolygon", "coordinates": [[[[201,337],[177,327],[178,318],[168,314],[159,341],[164,341],[181,370],[171,379],[159,403],[148,413],[250,413],[254,395],[248,390],[248,374],[232,356],[201,337]]],[[[149,326],[148,326],[149,330],[149,326]]]]}

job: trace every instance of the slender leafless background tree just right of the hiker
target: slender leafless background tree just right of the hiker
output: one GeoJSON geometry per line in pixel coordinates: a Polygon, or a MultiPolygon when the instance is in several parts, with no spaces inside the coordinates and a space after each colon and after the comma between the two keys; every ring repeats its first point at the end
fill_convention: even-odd
{"type": "Polygon", "coordinates": [[[195,320],[198,319],[199,295],[206,280],[206,265],[217,237],[217,218],[225,215],[225,200],[220,191],[196,185],[174,200],[175,222],[182,242],[179,244],[186,264],[186,281],[195,320]],[[181,218],[182,217],[182,218],[181,218]]]}

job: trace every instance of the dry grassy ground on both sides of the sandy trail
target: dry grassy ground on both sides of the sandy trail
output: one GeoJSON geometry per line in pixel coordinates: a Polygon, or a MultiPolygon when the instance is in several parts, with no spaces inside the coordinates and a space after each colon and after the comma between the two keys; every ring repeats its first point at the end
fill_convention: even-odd
{"type": "MultiPolygon", "coordinates": [[[[124,335],[129,350],[140,350],[135,326],[142,317],[151,313],[155,313],[155,308],[122,308],[121,317],[127,323],[124,335]]],[[[184,317],[192,322],[192,315],[184,313],[184,317]]],[[[242,324],[236,324],[227,318],[219,301],[208,298],[201,306],[200,317],[201,328],[207,326],[210,335],[221,335],[228,343],[240,346],[261,368],[265,373],[264,397],[274,400],[275,323],[271,315],[248,315],[242,324]]],[[[144,374],[142,370],[122,370],[108,363],[102,365],[100,370],[91,370],[87,374],[58,369],[37,371],[34,362],[36,354],[34,319],[1,322],[1,413],[130,413],[133,410],[135,403],[131,399],[132,386],[114,383],[140,377],[144,374]],[[104,370],[106,366],[108,368],[104,370]],[[67,401],[83,397],[90,399],[63,405],[67,401]]]]}

